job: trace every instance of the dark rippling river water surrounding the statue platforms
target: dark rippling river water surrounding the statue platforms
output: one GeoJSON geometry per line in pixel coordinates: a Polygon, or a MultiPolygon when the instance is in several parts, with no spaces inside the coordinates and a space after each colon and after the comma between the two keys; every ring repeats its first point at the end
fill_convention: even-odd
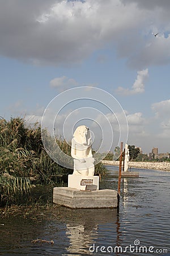
{"type": "MultiPolygon", "coordinates": [[[[107,168],[100,188],[117,189],[118,167],[107,168]]],[[[122,179],[119,211],[54,205],[1,218],[0,255],[170,255],[170,172],[132,170],[139,177],[122,179]],[[54,244],[31,242],[37,238],[54,244]]]]}

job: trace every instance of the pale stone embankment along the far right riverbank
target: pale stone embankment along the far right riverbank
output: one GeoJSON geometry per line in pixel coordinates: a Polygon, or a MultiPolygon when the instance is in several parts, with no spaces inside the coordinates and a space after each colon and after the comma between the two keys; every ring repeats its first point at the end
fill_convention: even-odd
{"type": "MultiPolygon", "coordinates": [[[[103,160],[102,163],[110,166],[119,165],[119,161],[103,160]]],[[[170,162],[129,162],[129,167],[170,171],[170,162]]]]}

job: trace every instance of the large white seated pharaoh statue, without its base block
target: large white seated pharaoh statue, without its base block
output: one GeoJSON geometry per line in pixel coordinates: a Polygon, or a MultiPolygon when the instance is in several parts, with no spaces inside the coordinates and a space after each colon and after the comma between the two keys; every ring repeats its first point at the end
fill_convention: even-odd
{"type": "Polygon", "coordinates": [[[71,156],[74,158],[73,175],[94,176],[94,158],[91,150],[91,134],[88,127],[76,128],[71,141],[71,156]]]}

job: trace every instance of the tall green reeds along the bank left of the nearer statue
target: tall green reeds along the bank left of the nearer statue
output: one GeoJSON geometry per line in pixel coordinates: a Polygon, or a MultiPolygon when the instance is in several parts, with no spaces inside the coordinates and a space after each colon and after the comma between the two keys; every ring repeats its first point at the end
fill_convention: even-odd
{"type": "MultiPolygon", "coordinates": [[[[28,127],[22,118],[0,119],[0,205],[19,204],[37,185],[63,185],[73,170],[59,166],[46,153],[39,123],[28,127]]],[[[56,139],[70,155],[71,147],[56,139]]],[[[104,175],[101,164],[95,174],[104,175]]]]}

